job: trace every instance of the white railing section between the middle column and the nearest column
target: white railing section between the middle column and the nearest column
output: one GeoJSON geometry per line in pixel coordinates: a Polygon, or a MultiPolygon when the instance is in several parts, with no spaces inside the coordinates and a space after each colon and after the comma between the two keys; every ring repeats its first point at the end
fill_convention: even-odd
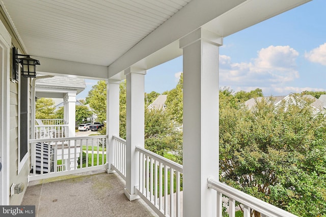
{"type": "Polygon", "coordinates": [[[139,195],[160,216],[182,216],[183,167],[149,150],[139,151],[139,195]]]}

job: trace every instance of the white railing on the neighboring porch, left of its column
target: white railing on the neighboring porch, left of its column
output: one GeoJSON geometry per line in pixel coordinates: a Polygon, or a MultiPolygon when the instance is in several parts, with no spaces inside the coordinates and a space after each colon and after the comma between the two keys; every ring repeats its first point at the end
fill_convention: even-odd
{"type": "Polygon", "coordinates": [[[68,125],[36,125],[35,138],[64,138],[68,134],[68,125]]]}

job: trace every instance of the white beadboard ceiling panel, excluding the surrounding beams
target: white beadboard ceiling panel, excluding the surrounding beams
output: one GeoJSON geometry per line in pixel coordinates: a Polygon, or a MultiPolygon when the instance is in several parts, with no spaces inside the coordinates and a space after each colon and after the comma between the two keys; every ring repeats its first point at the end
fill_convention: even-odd
{"type": "Polygon", "coordinates": [[[2,0],[26,52],[109,66],[191,0],[2,0]]]}

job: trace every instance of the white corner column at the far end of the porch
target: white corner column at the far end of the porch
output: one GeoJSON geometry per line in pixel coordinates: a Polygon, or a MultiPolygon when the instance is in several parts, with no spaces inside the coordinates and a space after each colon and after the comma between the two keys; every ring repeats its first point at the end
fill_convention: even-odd
{"type": "Polygon", "coordinates": [[[106,132],[108,135],[108,147],[106,148],[107,156],[107,173],[115,172],[112,170],[112,164],[114,163],[114,140],[113,136],[119,136],[119,95],[120,95],[120,81],[108,80],[107,83],[107,108],[106,108],[106,132]]]}

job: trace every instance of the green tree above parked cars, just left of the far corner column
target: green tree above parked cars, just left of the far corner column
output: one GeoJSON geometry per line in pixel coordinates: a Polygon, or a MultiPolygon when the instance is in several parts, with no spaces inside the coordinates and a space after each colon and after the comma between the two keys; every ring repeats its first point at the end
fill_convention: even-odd
{"type": "Polygon", "coordinates": [[[97,120],[103,122],[106,120],[106,82],[98,81],[96,85],[88,92],[86,102],[94,110],[97,120]]]}

